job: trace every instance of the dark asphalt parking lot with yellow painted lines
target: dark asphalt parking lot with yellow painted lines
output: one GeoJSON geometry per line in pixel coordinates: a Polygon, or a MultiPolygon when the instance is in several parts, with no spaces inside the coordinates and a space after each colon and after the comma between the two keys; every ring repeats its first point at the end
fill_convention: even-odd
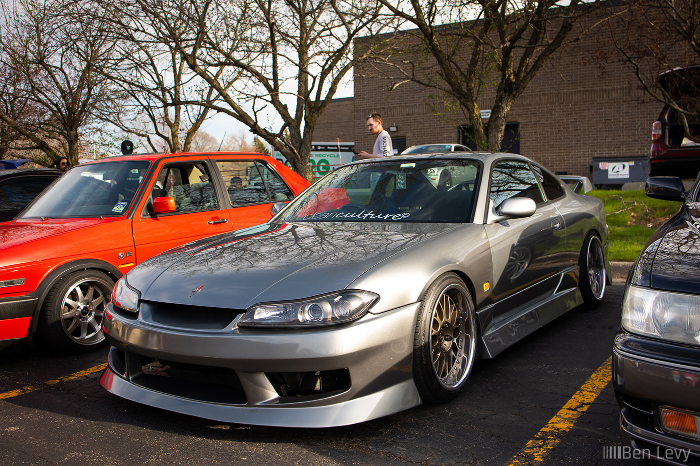
{"type": "Polygon", "coordinates": [[[0,464],[655,465],[604,457],[620,445],[605,371],[622,283],[599,309],[571,311],[478,361],[453,402],[342,428],[218,423],[128,402],[99,385],[106,349],[2,355],[0,464]]]}

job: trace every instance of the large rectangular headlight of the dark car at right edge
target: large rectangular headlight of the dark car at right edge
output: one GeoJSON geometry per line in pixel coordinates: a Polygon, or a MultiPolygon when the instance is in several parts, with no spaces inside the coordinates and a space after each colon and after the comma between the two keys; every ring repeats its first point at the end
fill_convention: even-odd
{"type": "Polygon", "coordinates": [[[629,286],[622,302],[622,327],[648,337],[700,344],[700,297],[629,286]]]}

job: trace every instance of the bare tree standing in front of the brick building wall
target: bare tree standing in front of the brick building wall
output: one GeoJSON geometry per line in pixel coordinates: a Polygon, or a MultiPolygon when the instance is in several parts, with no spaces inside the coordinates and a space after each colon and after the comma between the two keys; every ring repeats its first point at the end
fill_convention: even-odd
{"type": "MultiPolygon", "coordinates": [[[[500,150],[512,105],[597,2],[571,0],[379,0],[416,29],[397,31],[398,54],[377,60],[374,77],[390,89],[414,82],[437,90],[468,118],[477,146],[500,150]],[[379,71],[379,73],[377,73],[379,71]],[[493,87],[491,115],[477,99],[493,87]]],[[[381,58],[381,57],[380,57],[381,58]]]]}

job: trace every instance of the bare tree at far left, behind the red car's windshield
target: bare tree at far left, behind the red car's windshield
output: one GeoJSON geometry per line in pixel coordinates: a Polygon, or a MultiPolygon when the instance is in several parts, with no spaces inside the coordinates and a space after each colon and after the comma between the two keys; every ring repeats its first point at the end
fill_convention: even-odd
{"type": "Polygon", "coordinates": [[[33,109],[27,120],[0,108],[0,121],[29,141],[25,150],[44,153],[36,162],[65,156],[75,164],[97,108],[113,104],[109,83],[95,72],[112,44],[85,34],[57,2],[6,0],[0,8],[0,66],[17,77],[3,87],[2,100],[33,109]]]}

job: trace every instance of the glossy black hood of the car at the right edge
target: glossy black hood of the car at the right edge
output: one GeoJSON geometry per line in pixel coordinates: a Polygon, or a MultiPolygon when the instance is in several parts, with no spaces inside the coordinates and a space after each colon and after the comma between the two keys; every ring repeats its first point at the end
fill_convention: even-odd
{"type": "MultiPolygon", "coordinates": [[[[689,292],[700,290],[700,212],[689,209],[675,216],[664,235],[652,241],[656,248],[650,263],[650,285],[660,290],[689,292]]],[[[647,254],[645,254],[647,253],[647,254]]],[[[642,264],[642,257],[640,257],[642,264]]]]}

